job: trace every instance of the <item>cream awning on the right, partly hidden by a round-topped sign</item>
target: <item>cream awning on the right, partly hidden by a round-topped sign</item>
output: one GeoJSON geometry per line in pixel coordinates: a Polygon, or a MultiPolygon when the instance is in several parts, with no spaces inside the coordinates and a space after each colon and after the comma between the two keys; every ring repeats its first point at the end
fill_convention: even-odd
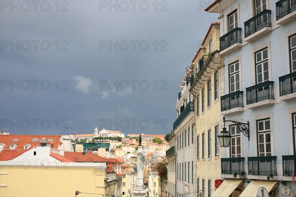
{"type": "Polygon", "coordinates": [[[251,181],[247,188],[242,192],[239,197],[256,197],[257,191],[260,187],[264,187],[269,193],[275,186],[275,181],[251,181]]]}

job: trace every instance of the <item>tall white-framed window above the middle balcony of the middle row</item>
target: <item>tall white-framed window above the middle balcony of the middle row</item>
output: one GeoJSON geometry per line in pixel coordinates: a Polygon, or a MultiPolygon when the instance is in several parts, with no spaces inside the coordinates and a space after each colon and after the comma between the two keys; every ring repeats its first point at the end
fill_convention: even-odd
{"type": "Polygon", "coordinates": [[[268,81],[268,55],[267,48],[255,54],[255,67],[256,67],[256,83],[268,81]]]}

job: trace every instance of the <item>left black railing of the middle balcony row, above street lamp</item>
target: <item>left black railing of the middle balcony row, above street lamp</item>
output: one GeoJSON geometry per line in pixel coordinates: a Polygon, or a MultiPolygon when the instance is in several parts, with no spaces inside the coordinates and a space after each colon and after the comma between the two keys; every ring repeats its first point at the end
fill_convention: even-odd
{"type": "Polygon", "coordinates": [[[244,107],[243,91],[236,91],[221,97],[221,111],[226,111],[236,107],[244,107]]]}

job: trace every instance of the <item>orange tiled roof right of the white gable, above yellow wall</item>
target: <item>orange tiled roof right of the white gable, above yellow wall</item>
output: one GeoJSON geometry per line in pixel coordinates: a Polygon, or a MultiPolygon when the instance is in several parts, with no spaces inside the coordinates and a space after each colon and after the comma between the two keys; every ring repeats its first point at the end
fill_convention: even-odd
{"type": "Polygon", "coordinates": [[[98,162],[98,163],[110,163],[109,159],[98,156],[94,153],[85,152],[83,155],[81,152],[65,152],[65,158],[73,162],[98,162]]]}

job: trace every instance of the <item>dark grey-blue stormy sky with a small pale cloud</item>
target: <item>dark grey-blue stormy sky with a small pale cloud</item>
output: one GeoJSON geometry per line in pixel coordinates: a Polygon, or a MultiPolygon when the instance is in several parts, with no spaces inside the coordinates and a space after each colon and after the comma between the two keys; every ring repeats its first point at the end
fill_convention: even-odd
{"type": "Polygon", "coordinates": [[[211,2],[1,0],[1,131],[172,131],[211,2]]]}

